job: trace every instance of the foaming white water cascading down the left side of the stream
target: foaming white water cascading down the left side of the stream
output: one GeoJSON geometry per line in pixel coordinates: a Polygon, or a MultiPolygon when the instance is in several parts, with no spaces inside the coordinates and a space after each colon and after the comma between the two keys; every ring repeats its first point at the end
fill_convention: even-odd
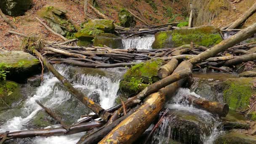
{"type": "MultiPolygon", "coordinates": [[[[71,77],[69,73],[70,67],[61,64],[56,65],[55,68],[61,75],[68,78],[75,88],[87,92],[88,95],[93,92],[99,93],[100,105],[104,109],[108,109],[114,105],[122,73],[118,72],[118,69],[111,69],[112,72],[115,71],[115,79],[112,80],[110,77],[89,74],[76,74],[74,77],[71,77]]],[[[105,71],[105,69],[103,70],[105,71]]],[[[52,74],[45,73],[44,81],[41,83],[41,86],[36,89],[36,94],[28,97],[24,102],[21,108],[21,115],[6,120],[6,123],[0,125],[0,132],[26,130],[24,125],[31,121],[41,109],[35,100],[40,101],[46,107],[54,108],[64,101],[75,99],[72,98],[71,94],[63,87],[57,85],[61,85],[59,80],[53,77],[52,74]]],[[[38,137],[33,143],[75,144],[82,135],[83,133],[73,134],[71,136],[38,137]]]]}

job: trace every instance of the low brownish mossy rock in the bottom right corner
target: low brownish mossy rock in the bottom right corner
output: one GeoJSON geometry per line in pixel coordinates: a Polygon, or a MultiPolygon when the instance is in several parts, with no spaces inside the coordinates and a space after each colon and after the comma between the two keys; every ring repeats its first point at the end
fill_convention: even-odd
{"type": "Polygon", "coordinates": [[[220,135],[214,144],[256,144],[256,137],[238,131],[220,135]]]}

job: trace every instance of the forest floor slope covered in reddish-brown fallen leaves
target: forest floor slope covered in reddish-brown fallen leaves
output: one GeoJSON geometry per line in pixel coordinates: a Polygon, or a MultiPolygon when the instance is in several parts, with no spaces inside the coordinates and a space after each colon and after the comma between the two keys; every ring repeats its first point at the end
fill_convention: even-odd
{"type": "MultiPolygon", "coordinates": [[[[74,0],[75,1],[75,0],[74,0]]],[[[55,6],[68,11],[67,15],[75,21],[77,24],[81,24],[86,21],[83,13],[83,0],[75,3],[72,0],[33,0],[32,8],[26,12],[24,16],[11,17],[8,19],[18,27],[12,29],[6,24],[3,19],[0,19],[0,48],[8,51],[21,50],[21,37],[16,35],[9,35],[8,30],[14,30],[24,35],[41,35],[49,40],[60,41],[61,39],[51,32],[48,32],[35,17],[37,11],[43,6],[55,6]]],[[[154,0],[154,3],[150,3],[152,0],[101,0],[97,1],[96,8],[104,13],[109,19],[119,23],[118,11],[121,8],[128,8],[135,13],[141,19],[152,25],[158,25],[174,21],[185,21],[188,18],[187,3],[173,3],[172,0],[154,0]],[[148,3],[147,3],[147,2],[148,3]],[[170,6],[168,6],[170,5],[170,6]]],[[[180,0],[181,1],[181,0],[180,0]]],[[[223,27],[232,21],[235,21],[241,14],[244,13],[256,0],[242,0],[238,4],[231,4],[229,10],[223,10],[211,21],[211,24],[217,27],[223,27]],[[232,9],[235,6],[236,10],[232,9]]],[[[88,8],[88,14],[97,19],[97,15],[88,8]]],[[[251,25],[256,21],[256,13],[245,22],[245,27],[251,25]]],[[[137,22],[136,27],[142,27],[140,22],[137,22]]]]}

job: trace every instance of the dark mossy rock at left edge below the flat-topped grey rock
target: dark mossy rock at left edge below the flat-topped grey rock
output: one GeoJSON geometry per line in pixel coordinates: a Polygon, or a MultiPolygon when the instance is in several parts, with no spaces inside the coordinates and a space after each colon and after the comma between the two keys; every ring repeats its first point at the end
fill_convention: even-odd
{"type": "Polygon", "coordinates": [[[0,111],[11,107],[13,102],[19,101],[22,97],[21,86],[13,81],[0,81],[0,111]]]}

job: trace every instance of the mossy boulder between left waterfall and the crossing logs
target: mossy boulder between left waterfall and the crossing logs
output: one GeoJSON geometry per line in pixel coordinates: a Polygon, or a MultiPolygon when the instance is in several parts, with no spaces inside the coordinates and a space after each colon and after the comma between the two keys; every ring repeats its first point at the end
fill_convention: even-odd
{"type": "Polygon", "coordinates": [[[119,91],[126,97],[134,96],[146,88],[148,84],[159,80],[158,69],[164,64],[161,59],[152,59],[137,64],[125,73],[120,81],[119,91]]]}

